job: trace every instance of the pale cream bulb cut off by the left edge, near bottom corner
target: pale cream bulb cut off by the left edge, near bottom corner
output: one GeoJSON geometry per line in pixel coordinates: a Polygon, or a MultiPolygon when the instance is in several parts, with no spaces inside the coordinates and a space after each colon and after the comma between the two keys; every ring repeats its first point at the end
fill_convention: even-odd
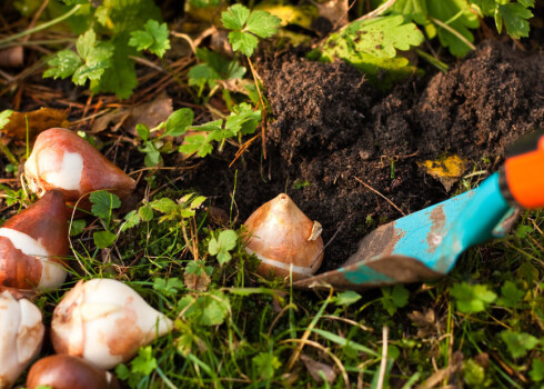
{"type": "Polygon", "coordinates": [[[38,307],[4,290],[0,293],[0,389],[4,389],[38,356],[46,328],[38,307]]]}

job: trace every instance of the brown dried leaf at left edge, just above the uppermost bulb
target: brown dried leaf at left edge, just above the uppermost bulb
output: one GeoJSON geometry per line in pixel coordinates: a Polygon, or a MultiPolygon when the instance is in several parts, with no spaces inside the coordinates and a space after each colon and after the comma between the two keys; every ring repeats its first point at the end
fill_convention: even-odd
{"type": "Polygon", "coordinates": [[[27,140],[27,121],[29,121],[29,141],[32,143],[40,132],[53,127],[69,127],[67,120],[68,110],[42,107],[31,112],[13,112],[9,117],[0,133],[3,134],[2,143],[8,144],[11,140],[24,142],[27,140]]]}

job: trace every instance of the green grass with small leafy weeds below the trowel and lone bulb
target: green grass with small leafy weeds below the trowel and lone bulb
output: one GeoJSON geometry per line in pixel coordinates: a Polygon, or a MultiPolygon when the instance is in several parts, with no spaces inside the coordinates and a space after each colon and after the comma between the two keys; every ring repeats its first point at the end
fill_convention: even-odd
{"type": "MultiPolygon", "coordinates": [[[[359,293],[292,290],[261,279],[241,237],[220,266],[208,253],[211,231],[235,226],[211,226],[203,209],[188,219],[161,217],[154,212],[107,249],[92,243],[99,220],[72,239],[72,281],[64,290],[80,278],[115,277],[175,320],[172,333],[115,369],[131,388],[542,383],[535,361],[544,348],[543,211],[523,213],[512,233],[471,249],[440,280],[359,293]],[[181,223],[197,227],[190,236],[202,271],[190,271],[208,278],[205,290],[185,286],[193,242],[182,238],[181,223]]],[[[114,213],[110,229],[122,222],[114,213]]],[[[47,323],[62,295],[38,299],[47,323]]]]}

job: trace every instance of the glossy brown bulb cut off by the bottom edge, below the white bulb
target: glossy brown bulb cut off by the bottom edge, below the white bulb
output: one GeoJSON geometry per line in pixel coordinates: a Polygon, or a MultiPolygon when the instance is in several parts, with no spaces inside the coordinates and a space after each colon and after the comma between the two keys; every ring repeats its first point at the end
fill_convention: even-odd
{"type": "Polygon", "coordinates": [[[46,357],[32,365],[27,377],[27,389],[40,386],[53,389],[119,389],[112,373],[67,355],[46,357]]]}

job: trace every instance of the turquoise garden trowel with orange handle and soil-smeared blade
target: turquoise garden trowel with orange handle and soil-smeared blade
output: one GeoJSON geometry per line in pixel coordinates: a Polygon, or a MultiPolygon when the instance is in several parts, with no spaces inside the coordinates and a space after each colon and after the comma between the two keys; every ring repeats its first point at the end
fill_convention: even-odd
{"type": "Polygon", "coordinates": [[[293,283],[363,289],[447,273],[469,247],[504,237],[520,209],[544,208],[544,130],[517,141],[476,189],[381,226],[339,269],[293,283]]]}

